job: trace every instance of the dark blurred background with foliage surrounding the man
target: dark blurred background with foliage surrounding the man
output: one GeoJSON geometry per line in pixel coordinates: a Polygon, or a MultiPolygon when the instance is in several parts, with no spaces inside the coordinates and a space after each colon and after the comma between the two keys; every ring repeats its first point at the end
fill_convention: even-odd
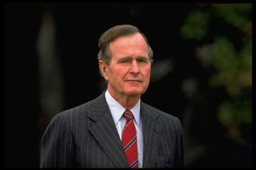
{"type": "Polygon", "coordinates": [[[4,3],[4,164],[39,166],[56,113],[98,97],[98,38],[138,26],[154,50],[142,101],[182,121],[187,168],[252,167],[252,4],[4,3]]]}

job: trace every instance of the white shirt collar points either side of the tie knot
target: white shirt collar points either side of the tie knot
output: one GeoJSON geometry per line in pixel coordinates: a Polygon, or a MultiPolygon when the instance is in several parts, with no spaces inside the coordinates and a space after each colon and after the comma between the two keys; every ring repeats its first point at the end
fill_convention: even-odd
{"type": "MultiPolygon", "coordinates": [[[[114,100],[108,90],[106,90],[105,97],[106,102],[110,108],[110,113],[112,114],[112,117],[114,119],[114,124],[117,125],[118,121],[122,117],[122,113],[124,113],[126,109],[122,107],[122,105],[120,105],[118,101],[114,100]]],[[[130,109],[130,111],[134,114],[134,119],[137,125],[140,125],[140,101],[141,100],[139,99],[138,103],[134,106],[134,108],[130,109]]]]}

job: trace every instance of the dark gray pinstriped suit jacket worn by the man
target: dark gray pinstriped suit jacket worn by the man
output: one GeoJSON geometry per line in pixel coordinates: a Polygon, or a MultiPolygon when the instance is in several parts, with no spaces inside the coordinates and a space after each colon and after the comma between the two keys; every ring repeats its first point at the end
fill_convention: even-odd
{"type": "MultiPolygon", "coordinates": [[[[177,117],[141,102],[143,168],[184,166],[182,126],[177,117]]],[[[41,168],[128,168],[104,93],[58,113],[41,144],[41,168]]]]}

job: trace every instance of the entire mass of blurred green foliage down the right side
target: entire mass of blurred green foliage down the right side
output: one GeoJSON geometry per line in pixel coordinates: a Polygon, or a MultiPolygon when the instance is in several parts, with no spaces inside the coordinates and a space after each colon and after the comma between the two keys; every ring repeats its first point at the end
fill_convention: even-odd
{"type": "Polygon", "coordinates": [[[228,94],[218,106],[218,120],[229,129],[230,135],[239,136],[240,126],[252,123],[252,4],[213,4],[207,6],[210,7],[207,13],[202,12],[204,7],[199,6],[199,10],[188,15],[181,34],[183,38],[202,41],[209,34],[210,17],[217,18],[239,32],[237,40],[240,42],[234,42],[225,34],[215,34],[210,45],[202,45],[197,49],[197,53],[204,54],[198,58],[208,57],[205,60],[208,69],[214,69],[209,77],[210,87],[225,88],[228,94]],[[207,50],[200,51],[202,49],[207,50]]]}

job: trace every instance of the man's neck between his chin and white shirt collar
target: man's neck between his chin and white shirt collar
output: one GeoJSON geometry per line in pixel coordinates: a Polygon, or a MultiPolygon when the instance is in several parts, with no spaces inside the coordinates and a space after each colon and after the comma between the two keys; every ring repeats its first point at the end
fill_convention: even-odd
{"type": "Polygon", "coordinates": [[[108,89],[108,91],[111,97],[113,97],[115,101],[118,101],[118,103],[126,109],[133,109],[141,97],[141,95],[128,96],[126,94],[116,93],[111,89],[108,89]]]}

